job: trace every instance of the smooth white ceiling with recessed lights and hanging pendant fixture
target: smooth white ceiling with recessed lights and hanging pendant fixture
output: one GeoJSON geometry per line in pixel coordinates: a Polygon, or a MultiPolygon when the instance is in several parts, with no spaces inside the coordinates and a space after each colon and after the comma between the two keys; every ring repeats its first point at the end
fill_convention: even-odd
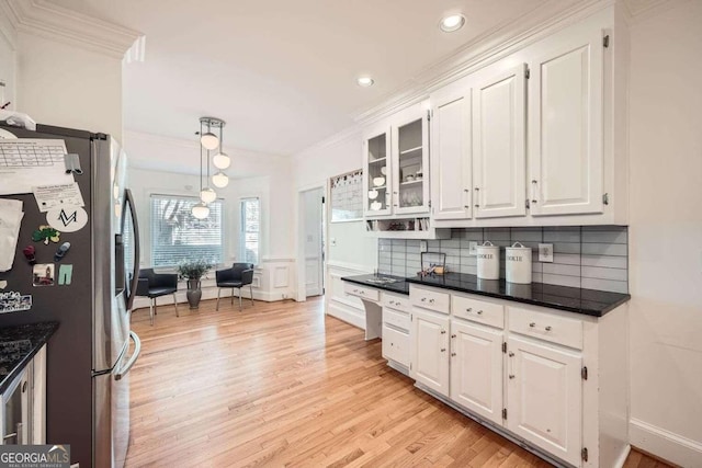
{"type": "Polygon", "coordinates": [[[227,147],[294,155],[353,125],[414,77],[550,0],[54,0],[140,31],[146,60],[124,69],[131,132],[194,138],[227,122],[227,147]],[[466,25],[438,23],[461,11],[466,25]],[[370,73],[375,85],[360,88],[370,73]]]}

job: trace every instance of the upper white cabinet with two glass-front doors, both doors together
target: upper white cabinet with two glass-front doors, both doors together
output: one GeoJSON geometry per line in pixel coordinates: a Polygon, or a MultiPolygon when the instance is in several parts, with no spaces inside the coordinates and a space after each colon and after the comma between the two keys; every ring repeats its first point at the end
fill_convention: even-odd
{"type": "Polygon", "coordinates": [[[422,105],[366,132],[363,159],[366,217],[429,213],[429,121],[422,105]]]}

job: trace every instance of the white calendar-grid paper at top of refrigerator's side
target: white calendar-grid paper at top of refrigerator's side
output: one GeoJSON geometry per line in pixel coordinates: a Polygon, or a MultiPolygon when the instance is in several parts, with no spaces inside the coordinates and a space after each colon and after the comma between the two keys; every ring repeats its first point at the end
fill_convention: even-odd
{"type": "Polygon", "coordinates": [[[32,193],[37,185],[69,184],[63,139],[0,139],[0,195],[32,193]]]}

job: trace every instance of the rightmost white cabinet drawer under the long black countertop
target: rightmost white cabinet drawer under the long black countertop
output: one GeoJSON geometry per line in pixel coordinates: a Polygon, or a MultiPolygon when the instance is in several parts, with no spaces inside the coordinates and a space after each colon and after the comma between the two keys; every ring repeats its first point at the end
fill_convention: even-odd
{"type": "Polygon", "coordinates": [[[508,307],[509,330],[564,346],[582,350],[582,322],[520,307],[508,307]]]}

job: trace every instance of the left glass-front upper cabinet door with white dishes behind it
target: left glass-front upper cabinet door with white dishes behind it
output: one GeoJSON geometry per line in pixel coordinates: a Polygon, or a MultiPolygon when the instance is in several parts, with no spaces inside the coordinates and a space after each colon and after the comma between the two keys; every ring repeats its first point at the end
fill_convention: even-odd
{"type": "Polygon", "coordinates": [[[393,204],[390,128],[382,127],[363,140],[363,212],[367,217],[389,215],[393,204]]]}

